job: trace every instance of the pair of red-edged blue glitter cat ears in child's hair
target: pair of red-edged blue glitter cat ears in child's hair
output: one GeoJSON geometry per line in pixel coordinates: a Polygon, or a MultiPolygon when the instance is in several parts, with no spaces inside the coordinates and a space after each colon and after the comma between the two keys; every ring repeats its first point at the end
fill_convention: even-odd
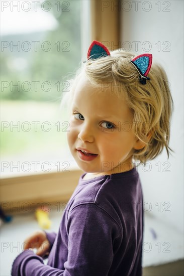
{"type": "MultiPolygon", "coordinates": [[[[103,45],[99,41],[94,40],[89,46],[87,52],[87,59],[98,59],[106,56],[110,56],[109,50],[106,48],[105,45],[103,45]]],[[[147,74],[149,73],[151,68],[152,55],[142,54],[130,60],[130,62],[134,65],[134,67],[137,69],[139,73],[140,83],[146,84],[146,80],[150,80],[150,78],[147,77],[147,74]]]]}

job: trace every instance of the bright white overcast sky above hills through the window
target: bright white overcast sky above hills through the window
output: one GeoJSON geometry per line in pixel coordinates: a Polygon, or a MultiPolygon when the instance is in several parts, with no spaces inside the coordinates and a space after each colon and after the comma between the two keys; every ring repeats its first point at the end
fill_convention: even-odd
{"type": "MultiPolygon", "coordinates": [[[[19,1],[20,11],[18,11],[18,8],[13,6],[16,4],[19,5],[18,1],[4,1],[5,4],[3,4],[2,1],[1,36],[48,31],[53,30],[58,26],[57,20],[52,16],[52,13],[45,11],[46,9],[49,9],[48,5],[46,6],[45,4],[44,10],[39,6],[39,3],[37,3],[36,7],[36,4],[31,0],[25,2],[27,4],[24,4],[24,6],[21,7],[23,2],[19,1]],[[9,6],[5,7],[3,5],[9,6]]],[[[43,1],[39,2],[41,4],[43,1]]],[[[52,4],[53,2],[49,1],[49,3],[52,4]]]]}

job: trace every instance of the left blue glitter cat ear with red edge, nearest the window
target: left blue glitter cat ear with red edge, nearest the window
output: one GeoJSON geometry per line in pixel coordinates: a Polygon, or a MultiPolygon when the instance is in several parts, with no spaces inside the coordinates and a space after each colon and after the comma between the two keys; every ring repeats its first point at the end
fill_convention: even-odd
{"type": "Polygon", "coordinates": [[[98,59],[106,56],[110,56],[109,50],[106,48],[105,45],[97,40],[94,40],[89,46],[87,59],[98,59]]]}

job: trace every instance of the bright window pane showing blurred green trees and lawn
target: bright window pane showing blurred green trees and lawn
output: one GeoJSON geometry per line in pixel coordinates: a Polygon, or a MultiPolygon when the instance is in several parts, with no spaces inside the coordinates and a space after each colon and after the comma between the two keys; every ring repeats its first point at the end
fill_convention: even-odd
{"type": "Polygon", "coordinates": [[[81,1],[6,3],[1,13],[2,176],[70,170],[68,122],[59,107],[66,80],[81,62],[81,1]]]}

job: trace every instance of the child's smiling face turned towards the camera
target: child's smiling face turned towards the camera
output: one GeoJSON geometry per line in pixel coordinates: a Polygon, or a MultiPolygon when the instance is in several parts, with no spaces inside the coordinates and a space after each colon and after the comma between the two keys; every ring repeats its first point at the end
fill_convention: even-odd
{"type": "MultiPolygon", "coordinates": [[[[107,84],[106,84],[107,86],[107,84]]],[[[102,89],[102,88],[98,88],[102,89]]],[[[111,175],[131,170],[136,139],[132,114],[111,87],[97,92],[84,77],[80,78],[72,102],[68,145],[81,170],[94,175],[111,175]],[[86,156],[80,149],[96,155],[86,156]]]]}

